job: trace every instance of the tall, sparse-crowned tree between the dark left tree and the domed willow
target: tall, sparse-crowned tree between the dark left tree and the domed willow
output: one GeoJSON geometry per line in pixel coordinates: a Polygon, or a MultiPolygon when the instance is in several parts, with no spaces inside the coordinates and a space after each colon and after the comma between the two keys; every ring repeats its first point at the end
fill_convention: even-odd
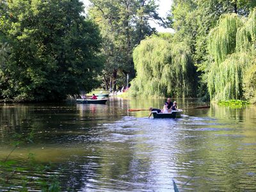
{"type": "MultiPolygon", "coordinates": [[[[134,76],[132,49],[156,29],[148,20],[161,20],[154,0],[90,0],[89,16],[100,27],[104,39],[102,54],[105,58],[103,79],[105,87],[116,88],[116,78],[134,76]],[[121,77],[118,77],[118,74],[121,77]]],[[[125,84],[124,82],[122,84],[125,84]]],[[[119,86],[122,86],[120,84],[119,86]]]]}

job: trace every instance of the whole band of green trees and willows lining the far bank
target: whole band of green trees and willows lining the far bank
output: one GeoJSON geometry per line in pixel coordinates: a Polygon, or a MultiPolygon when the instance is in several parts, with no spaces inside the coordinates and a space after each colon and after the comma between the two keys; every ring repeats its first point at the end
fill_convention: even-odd
{"type": "Polygon", "coordinates": [[[174,0],[165,18],[153,0],[129,3],[94,0],[84,15],[79,0],[1,1],[0,102],[129,86],[122,97],[256,103],[256,1],[174,0]]]}

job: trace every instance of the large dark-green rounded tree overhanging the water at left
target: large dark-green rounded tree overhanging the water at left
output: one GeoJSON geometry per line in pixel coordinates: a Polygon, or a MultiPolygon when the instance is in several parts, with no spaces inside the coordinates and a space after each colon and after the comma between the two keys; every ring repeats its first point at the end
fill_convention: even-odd
{"type": "Polygon", "coordinates": [[[0,99],[60,100],[97,85],[99,29],[82,12],[78,0],[1,1],[0,99]]]}

